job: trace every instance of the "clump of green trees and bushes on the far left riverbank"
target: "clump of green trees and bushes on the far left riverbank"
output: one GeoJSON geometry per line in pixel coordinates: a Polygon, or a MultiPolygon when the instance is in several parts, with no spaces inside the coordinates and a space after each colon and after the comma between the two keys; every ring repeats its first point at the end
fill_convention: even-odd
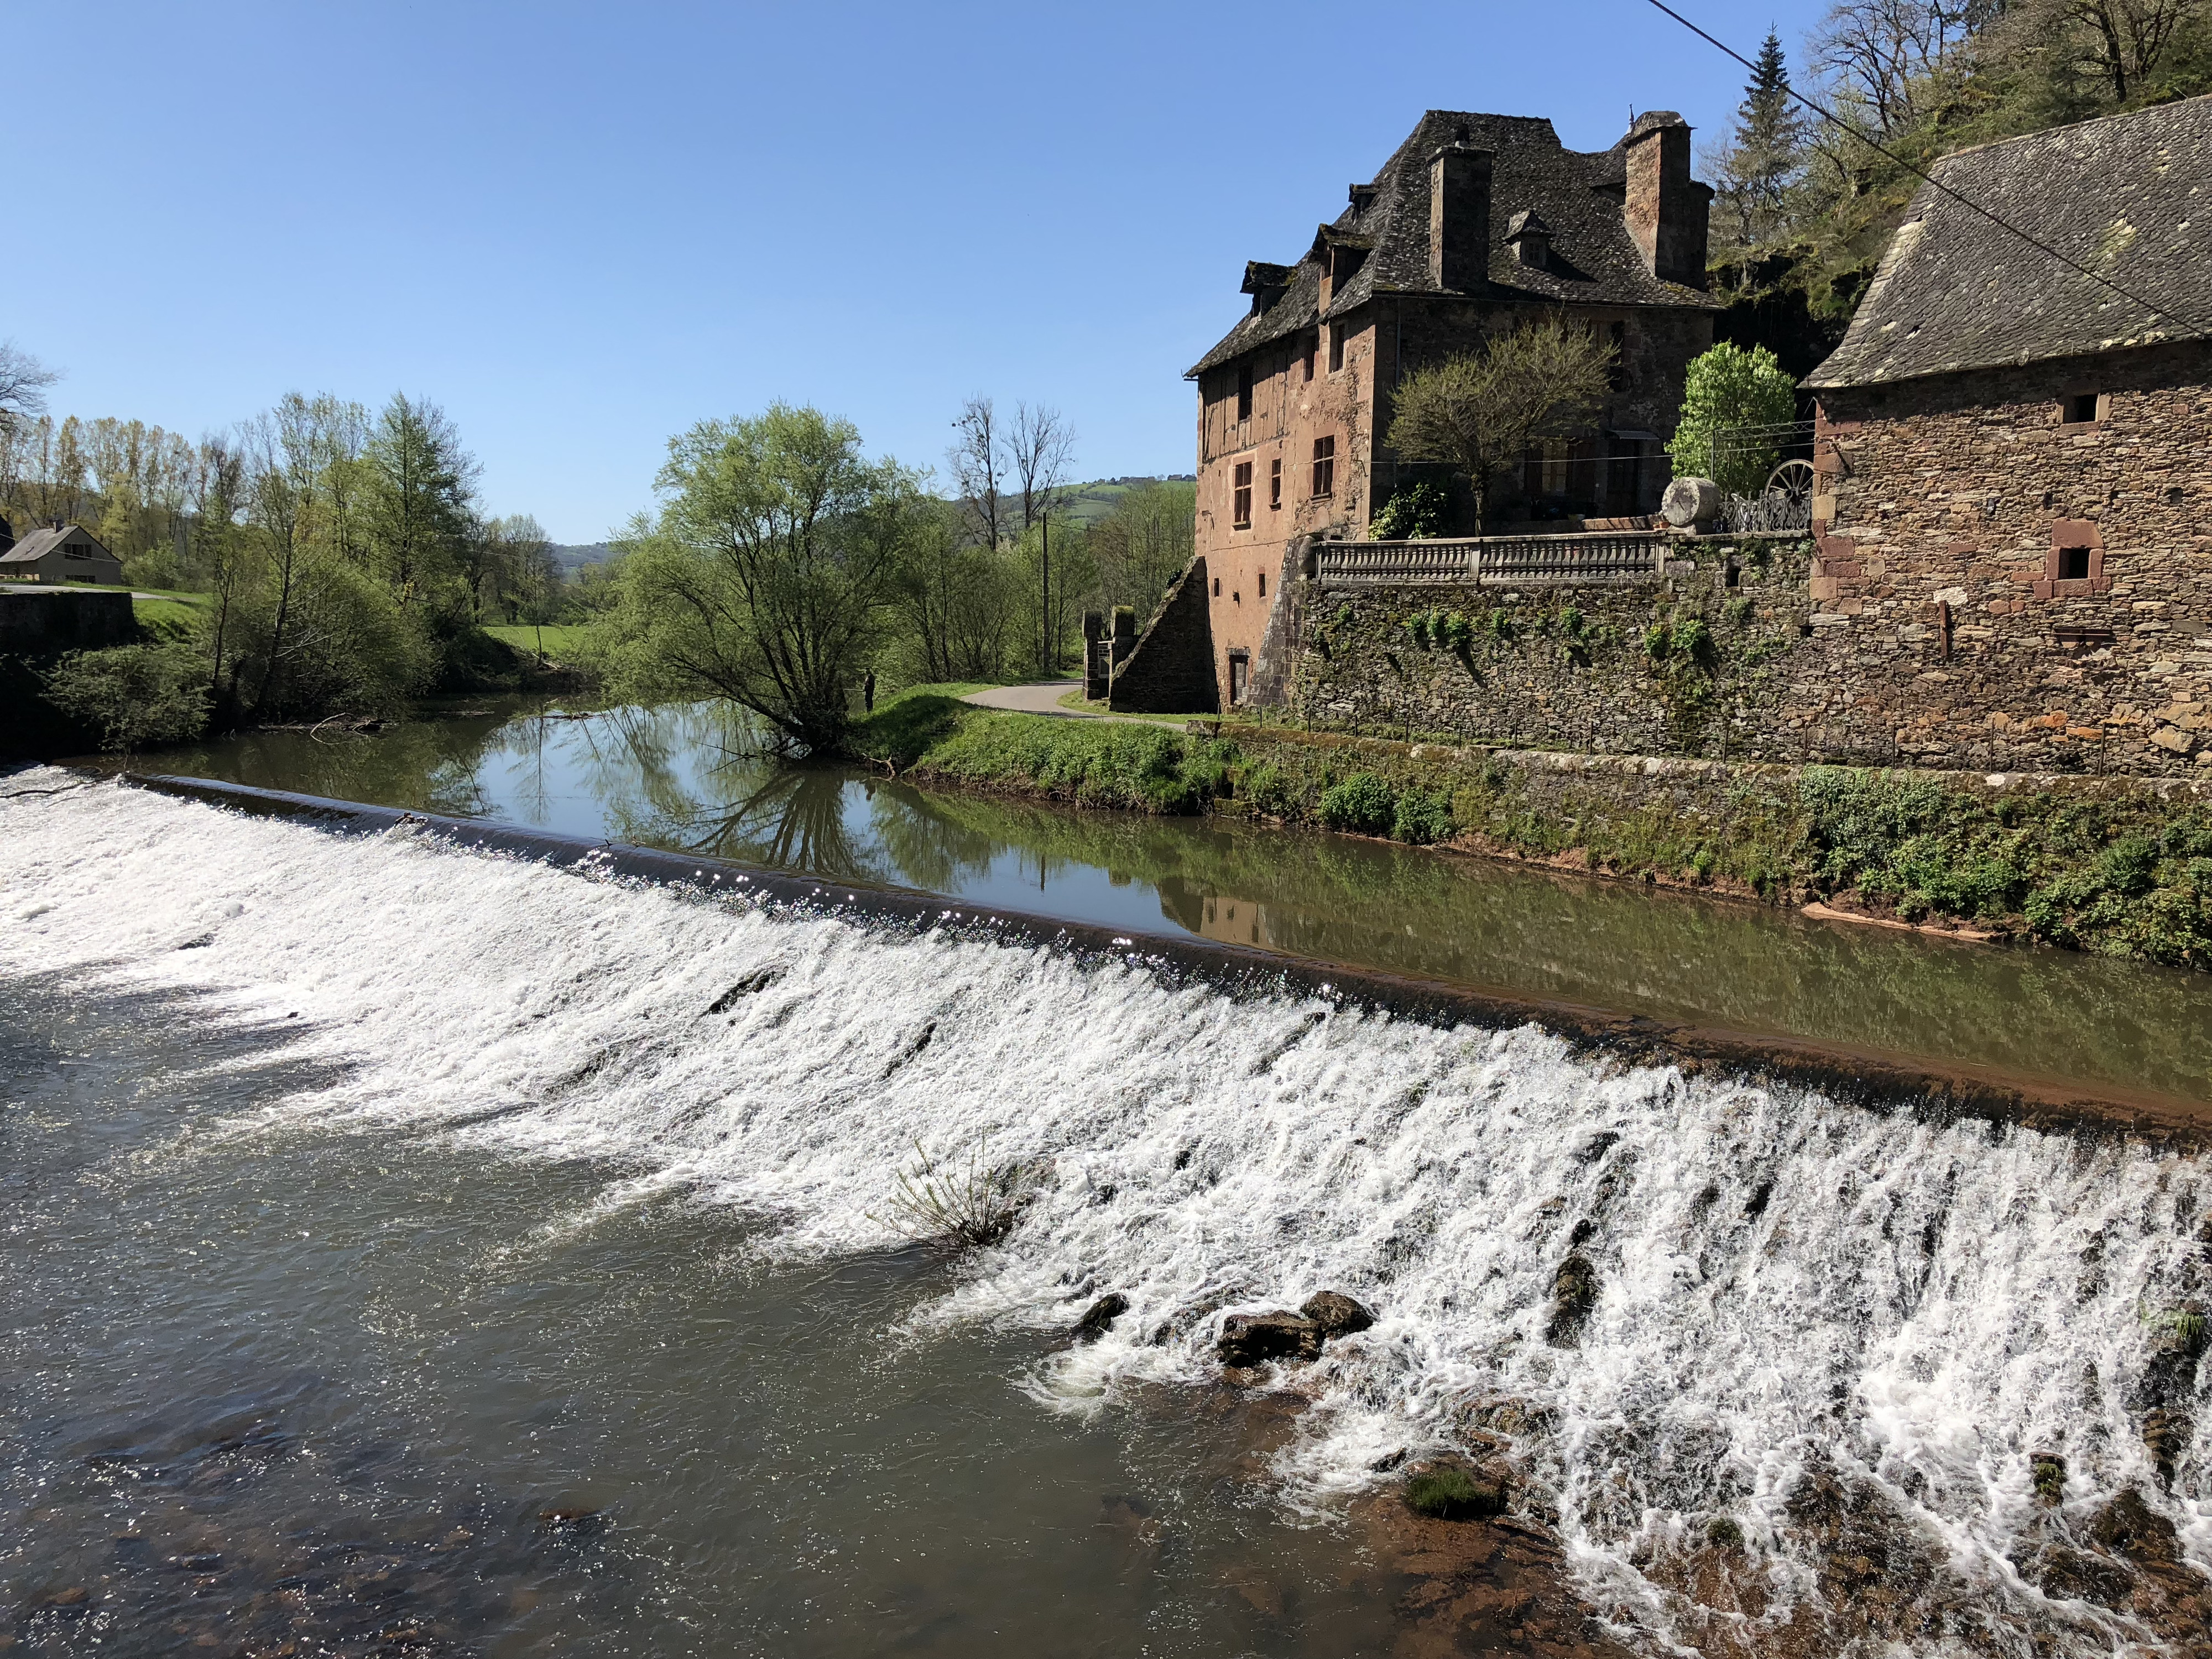
{"type": "Polygon", "coordinates": [[[0,513],[93,526],[146,639],[42,668],[44,701],[108,748],[206,730],[396,714],[518,684],[482,624],[546,617],[560,575],[526,515],[478,509],[476,462],[431,403],[369,414],[290,394],[188,442],[137,420],[0,422],[0,513]]]}

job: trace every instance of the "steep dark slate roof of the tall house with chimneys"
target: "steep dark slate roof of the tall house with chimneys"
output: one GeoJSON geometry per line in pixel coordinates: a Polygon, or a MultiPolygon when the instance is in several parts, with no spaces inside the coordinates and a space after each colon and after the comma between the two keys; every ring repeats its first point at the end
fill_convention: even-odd
{"type": "MultiPolygon", "coordinates": [[[[1652,117],[1644,117],[1639,128],[1652,117]]],[[[1571,150],[1537,115],[1478,115],[1433,108],[1383,164],[1365,197],[1314,237],[1374,243],[1358,272],[1336,290],[1329,316],[1345,316],[1376,294],[1440,294],[1429,281],[1429,157],[1449,144],[1491,150],[1491,259],[1484,299],[1502,303],[1688,305],[1717,307],[1710,294],[1650,274],[1621,219],[1628,179],[1626,137],[1610,150],[1571,150]],[[1551,230],[1551,263],[1535,270],[1506,246],[1506,223],[1535,212],[1551,230]]],[[[1256,268],[1256,261],[1254,261],[1256,268]]],[[[1248,268],[1252,270],[1252,268],[1248,268]]],[[[1259,314],[1245,316],[1183,378],[1192,378],[1323,321],[1321,265],[1310,250],[1287,288],[1259,314]]]]}

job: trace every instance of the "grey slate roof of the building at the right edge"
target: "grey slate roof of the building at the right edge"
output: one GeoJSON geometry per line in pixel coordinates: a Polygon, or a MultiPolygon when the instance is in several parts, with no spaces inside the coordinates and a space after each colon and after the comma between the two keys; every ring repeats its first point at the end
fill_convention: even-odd
{"type": "Polygon", "coordinates": [[[1805,385],[2088,356],[2212,325],[2212,97],[1982,144],[1933,168],[2150,305],[1922,184],[1834,356],[1805,385]]]}

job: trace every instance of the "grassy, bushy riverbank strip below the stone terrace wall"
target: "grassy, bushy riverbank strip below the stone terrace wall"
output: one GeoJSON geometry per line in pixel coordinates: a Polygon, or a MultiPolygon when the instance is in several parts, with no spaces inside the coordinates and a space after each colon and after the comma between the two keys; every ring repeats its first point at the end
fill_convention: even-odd
{"type": "Polygon", "coordinates": [[[854,739],[920,783],[1239,812],[2212,969],[2212,799],[2124,779],[1537,757],[982,710],[918,688],[854,739]]]}

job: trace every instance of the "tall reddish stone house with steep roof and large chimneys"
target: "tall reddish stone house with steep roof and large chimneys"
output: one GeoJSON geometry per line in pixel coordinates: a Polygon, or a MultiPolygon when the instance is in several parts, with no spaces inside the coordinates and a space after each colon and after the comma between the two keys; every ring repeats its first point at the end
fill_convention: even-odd
{"type": "Polygon", "coordinates": [[[1363,535],[1398,487],[1383,442],[1391,387],[1515,319],[1586,321],[1619,367],[1599,429],[1531,456],[1506,513],[1571,529],[1657,507],[1683,369],[1712,343],[1710,199],[1690,177],[1690,128],[1668,111],[1595,155],[1568,150],[1548,119],[1429,111],[1298,261],[1245,265],[1250,312],[1188,372],[1197,557],[1164,611],[1194,633],[1203,599],[1219,703],[1252,692],[1294,546],[1363,535]]]}

